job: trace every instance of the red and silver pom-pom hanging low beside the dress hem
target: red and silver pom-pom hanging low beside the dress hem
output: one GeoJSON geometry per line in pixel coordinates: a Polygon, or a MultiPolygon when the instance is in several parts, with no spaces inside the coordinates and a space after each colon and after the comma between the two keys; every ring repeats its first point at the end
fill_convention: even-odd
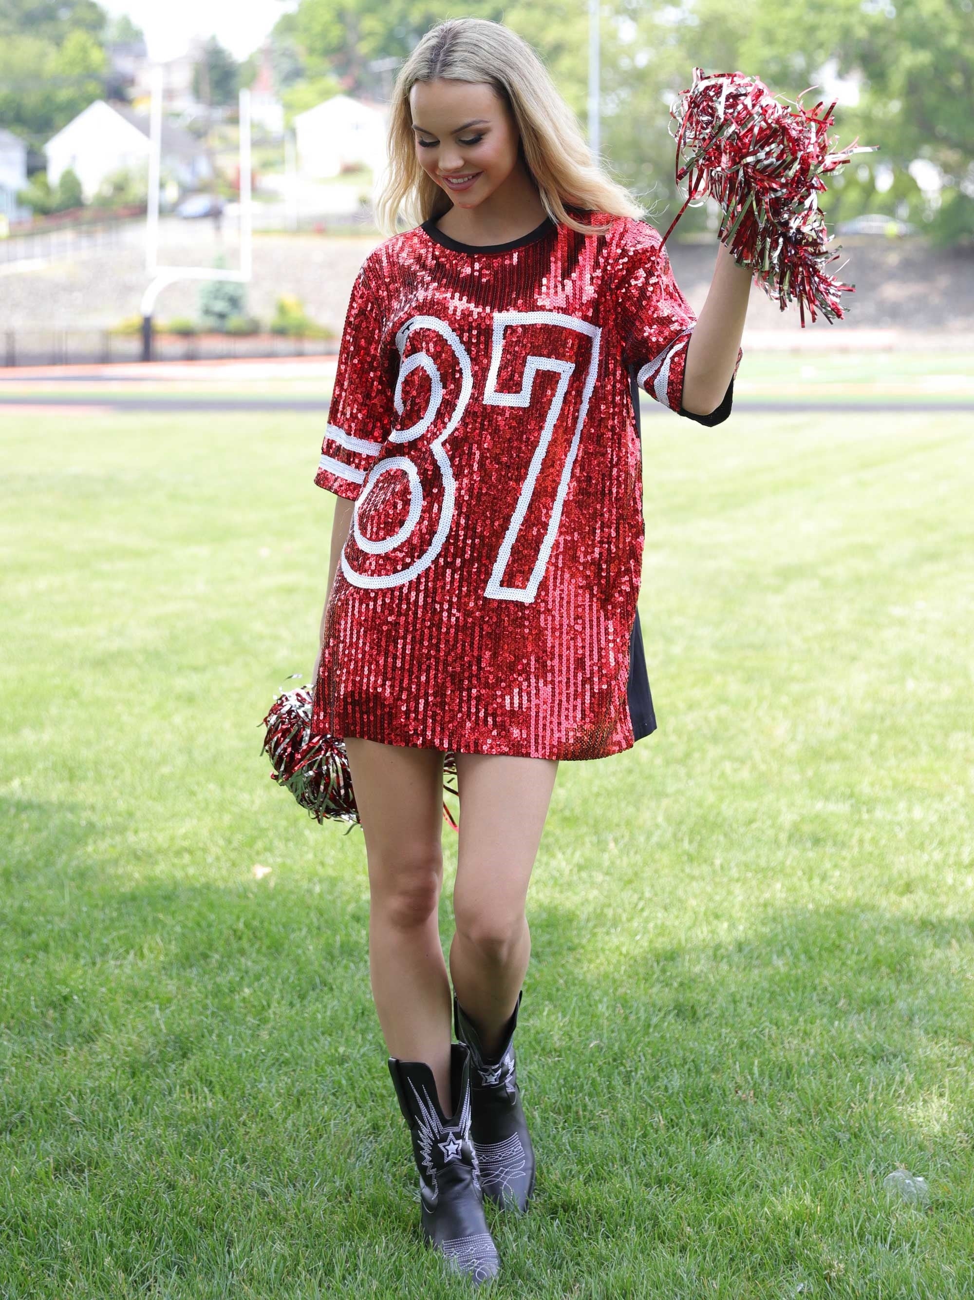
{"type": "MultiPolygon", "coordinates": [[[[329,818],[361,826],[345,742],[336,736],[312,734],[312,702],[310,686],[297,686],[274,697],[262,722],[266,733],[261,746],[261,754],[270,755],[270,779],[291,790],[318,823],[329,818]]],[[[456,776],[453,753],[444,755],[443,770],[456,776]]],[[[444,789],[458,793],[445,781],[444,789]]],[[[445,802],[443,815],[456,831],[457,823],[445,802]]]]}

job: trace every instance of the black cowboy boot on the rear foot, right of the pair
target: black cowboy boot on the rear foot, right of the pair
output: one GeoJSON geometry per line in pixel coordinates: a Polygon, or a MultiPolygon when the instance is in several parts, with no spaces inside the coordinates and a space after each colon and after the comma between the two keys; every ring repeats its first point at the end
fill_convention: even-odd
{"type": "Polygon", "coordinates": [[[483,1195],[496,1205],[513,1200],[527,1209],[534,1191],[535,1160],[531,1138],[521,1109],[521,1089],[514,1069],[514,1027],[523,989],[504,1028],[501,1048],[486,1057],[477,1030],[453,996],[453,1028],[470,1049],[471,1134],[481,1166],[483,1195]]]}

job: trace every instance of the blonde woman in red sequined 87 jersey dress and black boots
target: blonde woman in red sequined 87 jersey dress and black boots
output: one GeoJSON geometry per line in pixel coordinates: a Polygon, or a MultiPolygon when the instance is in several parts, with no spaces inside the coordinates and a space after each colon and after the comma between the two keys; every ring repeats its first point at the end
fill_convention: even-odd
{"type": "Polygon", "coordinates": [[[443,22],[412,52],[390,164],[387,238],[355,282],[314,480],[339,498],[314,722],[348,753],[422,1231],[482,1282],[499,1270],[484,1197],[523,1212],[535,1183],[513,1035],[558,762],[656,725],[634,391],[726,419],[751,276],[721,250],[697,320],[658,233],[531,47],[495,22],[443,22]]]}

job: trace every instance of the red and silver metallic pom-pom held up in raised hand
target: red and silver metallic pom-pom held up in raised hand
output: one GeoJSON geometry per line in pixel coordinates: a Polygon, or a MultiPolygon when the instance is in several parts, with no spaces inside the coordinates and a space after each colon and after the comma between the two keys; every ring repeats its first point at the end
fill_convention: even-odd
{"type": "Polygon", "coordinates": [[[801,96],[780,103],[756,77],[695,68],[692,86],[670,110],[679,124],[677,181],[687,181],[688,194],[664,243],[690,203],[716,199],[721,243],[782,311],[796,302],[803,325],[806,307],[813,321],[817,311],[840,318],[840,295],[853,292],[826,270],[839,255],[827,250],[818,195],[823,176],[871,150],[855,142],[834,147],[827,138],[834,108],[819,101],[806,109],[801,96]]]}

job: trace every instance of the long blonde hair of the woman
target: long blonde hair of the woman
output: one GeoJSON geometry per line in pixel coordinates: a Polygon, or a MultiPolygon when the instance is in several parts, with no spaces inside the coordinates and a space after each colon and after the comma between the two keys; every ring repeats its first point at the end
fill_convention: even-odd
{"type": "Polygon", "coordinates": [[[388,172],[375,198],[384,235],[396,234],[400,216],[419,225],[440,217],[451,205],[416,156],[409,108],[416,82],[440,78],[486,82],[506,101],[521,134],[518,152],[553,221],[592,235],[609,226],[579,222],[566,212],[566,204],[618,217],[644,216],[631,194],[593,159],[578,118],[534,48],[500,22],[448,18],[426,32],[400,68],[392,90],[388,172]]]}

